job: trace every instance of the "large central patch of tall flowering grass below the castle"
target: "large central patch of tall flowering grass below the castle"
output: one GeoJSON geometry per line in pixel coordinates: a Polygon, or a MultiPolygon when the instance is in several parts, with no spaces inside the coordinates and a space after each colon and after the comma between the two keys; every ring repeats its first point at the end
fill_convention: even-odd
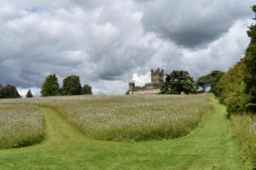
{"type": "Polygon", "coordinates": [[[211,110],[209,95],[73,96],[38,99],[94,139],[174,139],[190,133],[211,110]]]}

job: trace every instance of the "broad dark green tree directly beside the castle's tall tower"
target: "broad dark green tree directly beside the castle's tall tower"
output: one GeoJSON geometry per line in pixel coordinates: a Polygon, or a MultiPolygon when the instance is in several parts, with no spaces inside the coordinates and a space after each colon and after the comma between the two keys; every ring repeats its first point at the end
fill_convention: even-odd
{"type": "Polygon", "coordinates": [[[192,94],[194,89],[194,81],[188,71],[172,71],[170,75],[166,75],[161,94],[192,94]]]}

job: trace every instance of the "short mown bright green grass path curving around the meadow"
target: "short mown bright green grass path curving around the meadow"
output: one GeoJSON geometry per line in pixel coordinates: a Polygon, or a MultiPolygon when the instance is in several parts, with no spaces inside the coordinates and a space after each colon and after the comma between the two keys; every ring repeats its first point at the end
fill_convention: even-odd
{"type": "Polygon", "coordinates": [[[225,107],[215,110],[181,139],[106,142],[86,137],[61,114],[42,108],[46,137],[41,144],[0,150],[0,169],[171,169],[241,170],[236,140],[225,107]]]}

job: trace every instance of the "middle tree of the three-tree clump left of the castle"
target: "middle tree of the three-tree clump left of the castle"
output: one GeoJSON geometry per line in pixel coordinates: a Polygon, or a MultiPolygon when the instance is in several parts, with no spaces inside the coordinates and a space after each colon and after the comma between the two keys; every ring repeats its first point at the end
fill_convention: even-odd
{"type": "Polygon", "coordinates": [[[63,80],[63,87],[61,88],[62,95],[80,95],[82,94],[82,86],[80,77],[69,76],[63,80]]]}

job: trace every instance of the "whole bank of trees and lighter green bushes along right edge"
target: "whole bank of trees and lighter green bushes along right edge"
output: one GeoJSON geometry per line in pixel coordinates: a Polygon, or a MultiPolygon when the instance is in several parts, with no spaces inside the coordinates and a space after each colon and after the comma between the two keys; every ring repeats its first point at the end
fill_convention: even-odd
{"type": "MultiPolygon", "coordinates": [[[[253,6],[256,14],[256,5],[253,6]]],[[[254,18],[253,20],[256,20],[254,18]]],[[[256,25],[249,26],[250,37],[245,57],[218,82],[216,96],[227,105],[230,114],[256,113],[256,25]]]]}

